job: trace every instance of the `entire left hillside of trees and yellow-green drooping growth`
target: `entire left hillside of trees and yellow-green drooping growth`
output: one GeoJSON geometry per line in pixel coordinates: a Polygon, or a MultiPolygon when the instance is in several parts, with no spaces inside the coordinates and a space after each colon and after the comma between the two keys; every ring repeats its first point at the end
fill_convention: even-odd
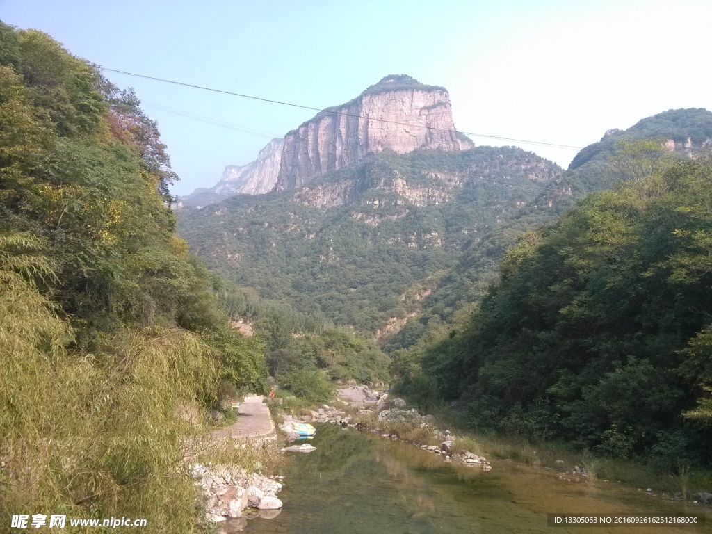
{"type": "Polygon", "coordinates": [[[180,414],[268,371],[174,233],[173,179],[130,90],[0,23],[4,510],[197,530],[180,414]]]}

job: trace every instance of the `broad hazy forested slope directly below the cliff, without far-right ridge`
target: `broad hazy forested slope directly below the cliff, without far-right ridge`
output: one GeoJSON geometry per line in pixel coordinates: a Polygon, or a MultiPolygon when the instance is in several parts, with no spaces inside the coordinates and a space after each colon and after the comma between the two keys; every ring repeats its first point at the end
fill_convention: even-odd
{"type": "MultiPolygon", "coordinates": [[[[415,313],[494,229],[514,239],[550,220],[570,192],[561,172],[517,148],[384,151],[295,190],[179,210],[179,231],[226,278],[373,334],[415,313]]],[[[486,252],[493,270],[503,251],[486,252]]]]}

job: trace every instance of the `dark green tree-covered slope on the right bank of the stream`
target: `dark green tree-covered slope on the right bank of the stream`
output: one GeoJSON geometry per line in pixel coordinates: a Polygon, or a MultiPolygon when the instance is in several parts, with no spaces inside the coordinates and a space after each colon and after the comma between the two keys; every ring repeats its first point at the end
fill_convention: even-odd
{"type": "Polygon", "coordinates": [[[404,387],[434,377],[480,429],[710,464],[712,165],[649,169],[523,234],[462,330],[397,355],[404,387]]]}

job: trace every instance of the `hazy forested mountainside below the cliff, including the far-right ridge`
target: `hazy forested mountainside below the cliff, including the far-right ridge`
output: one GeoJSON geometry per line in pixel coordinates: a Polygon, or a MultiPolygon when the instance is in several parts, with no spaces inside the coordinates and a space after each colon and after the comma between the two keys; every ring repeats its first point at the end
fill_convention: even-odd
{"type": "Polygon", "coordinates": [[[609,186],[618,140],[652,133],[698,157],[708,130],[707,110],[664,112],[604,135],[566,171],[515,147],[384,150],[295,189],[179,210],[179,232],[210,268],[263,298],[375,335],[403,328],[389,343],[404,347],[429,321],[481,300],[522,232],[609,186]]]}

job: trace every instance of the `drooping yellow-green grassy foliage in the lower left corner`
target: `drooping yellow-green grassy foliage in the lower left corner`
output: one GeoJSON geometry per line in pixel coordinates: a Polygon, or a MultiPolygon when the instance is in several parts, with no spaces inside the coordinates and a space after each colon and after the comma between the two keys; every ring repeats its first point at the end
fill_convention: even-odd
{"type": "Polygon", "coordinates": [[[122,330],[93,353],[70,350],[72,329],[35,282],[52,276],[41,246],[0,236],[2,508],[196,531],[179,406],[214,400],[213,355],[177,328],[122,330]]]}

